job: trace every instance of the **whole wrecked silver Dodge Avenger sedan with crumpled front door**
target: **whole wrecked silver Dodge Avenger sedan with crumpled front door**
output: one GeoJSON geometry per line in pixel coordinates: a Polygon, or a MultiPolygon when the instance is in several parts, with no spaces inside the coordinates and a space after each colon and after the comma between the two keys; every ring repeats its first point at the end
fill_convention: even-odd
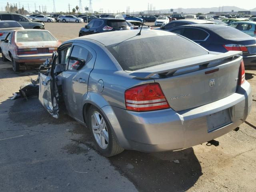
{"type": "Polygon", "coordinates": [[[246,120],[252,92],[240,54],[158,30],[84,36],[58,48],[39,100],[57,118],[63,97],[104,156],[188,148],[246,120]]]}

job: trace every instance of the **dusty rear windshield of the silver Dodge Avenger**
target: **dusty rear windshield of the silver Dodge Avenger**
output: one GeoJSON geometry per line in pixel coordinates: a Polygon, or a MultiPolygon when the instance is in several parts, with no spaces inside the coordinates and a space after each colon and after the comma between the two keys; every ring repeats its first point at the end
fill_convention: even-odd
{"type": "Polygon", "coordinates": [[[128,71],[208,54],[197,44],[178,35],[141,38],[109,45],[106,48],[122,69],[128,71]]]}

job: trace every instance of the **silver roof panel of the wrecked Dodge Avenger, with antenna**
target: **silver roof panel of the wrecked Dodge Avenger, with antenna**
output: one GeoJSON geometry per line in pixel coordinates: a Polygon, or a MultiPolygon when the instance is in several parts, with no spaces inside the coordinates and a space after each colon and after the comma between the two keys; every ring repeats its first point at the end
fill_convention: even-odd
{"type": "MultiPolygon", "coordinates": [[[[174,33],[161,31],[161,30],[143,30],[141,35],[137,35],[139,30],[124,30],[124,31],[113,31],[107,33],[98,33],[88,36],[82,36],[75,38],[77,40],[94,40],[100,42],[104,46],[117,44],[123,41],[130,41],[142,38],[150,38],[156,36],[167,36],[176,35],[174,33]]],[[[72,42],[72,40],[70,40],[72,42]]],[[[69,42],[69,41],[68,41],[69,42]]]]}

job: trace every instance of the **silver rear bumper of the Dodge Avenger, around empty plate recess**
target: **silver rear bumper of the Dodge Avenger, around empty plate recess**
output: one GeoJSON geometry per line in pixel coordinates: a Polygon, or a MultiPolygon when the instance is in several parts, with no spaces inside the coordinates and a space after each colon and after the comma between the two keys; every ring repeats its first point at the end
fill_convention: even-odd
{"type": "Polygon", "coordinates": [[[218,138],[242,124],[251,110],[252,93],[246,81],[237,92],[216,102],[175,112],[172,109],[132,112],[104,106],[120,145],[142,152],[178,150],[218,138]],[[207,116],[230,110],[231,123],[208,132],[207,116]]]}

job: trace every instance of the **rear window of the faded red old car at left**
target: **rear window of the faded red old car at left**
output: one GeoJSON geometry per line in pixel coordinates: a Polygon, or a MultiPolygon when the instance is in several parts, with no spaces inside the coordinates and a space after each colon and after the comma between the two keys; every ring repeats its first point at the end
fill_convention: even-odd
{"type": "Polygon", "coordinates": [[[16,42],[34,42],[34,41],[57,41],[48,31],[18,31],[16,33],[16,42]]]}

